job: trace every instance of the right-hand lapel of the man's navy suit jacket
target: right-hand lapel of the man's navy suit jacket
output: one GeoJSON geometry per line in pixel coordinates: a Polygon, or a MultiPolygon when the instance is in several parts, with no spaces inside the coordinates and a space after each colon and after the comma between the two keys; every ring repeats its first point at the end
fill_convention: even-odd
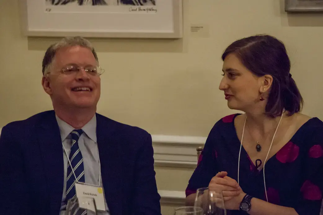
{"type": "Polygon", "coordinates": [[[122,214],[122,175],[118,158],[122,156],[113,124],[97,114],[97,141],[105,198],[111,215],[122,214]]]}

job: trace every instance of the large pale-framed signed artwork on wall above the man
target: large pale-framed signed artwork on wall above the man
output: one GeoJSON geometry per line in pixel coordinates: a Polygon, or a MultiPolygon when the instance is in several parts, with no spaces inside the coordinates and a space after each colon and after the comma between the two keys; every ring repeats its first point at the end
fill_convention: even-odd
{"type": "Polygon", "coordinates": [[[181,38],[182,0],[19,0],[26,36],[181,38]]]}

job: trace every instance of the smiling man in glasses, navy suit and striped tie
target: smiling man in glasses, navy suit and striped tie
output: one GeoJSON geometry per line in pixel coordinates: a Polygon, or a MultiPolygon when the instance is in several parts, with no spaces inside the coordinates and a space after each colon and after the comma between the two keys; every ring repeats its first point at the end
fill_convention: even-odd
{"type": "Polygon", "coordinates": [[[47,49],[42,86],[54,110],[2,129],[0,214],[65,214],[77,178],[103,188],[99,214],[160,215],[151,135],[96,113],[103,72],[84,38],[47,49]]]}

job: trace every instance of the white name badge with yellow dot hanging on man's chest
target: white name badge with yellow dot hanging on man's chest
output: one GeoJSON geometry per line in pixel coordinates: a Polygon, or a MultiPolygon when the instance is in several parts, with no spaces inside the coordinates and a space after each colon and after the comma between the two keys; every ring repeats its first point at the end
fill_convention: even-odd
{"type": "MultiPolygon", "coordinates": [[[[75,183],[75,190],[77,198],[79,198],[80,200],[82,200],[83,198],[92,198],[95,201],[97,210],[106,211],[103,189],[101,187],[75,183]]],[[[81,204],[79,205],[79,207],[81,207],[81,204]]],[[[90,208],[93,208],[93,206],[91,205],[87,205],[86,207],[87,208],[84,209],[91,210],[90,208]]]]}

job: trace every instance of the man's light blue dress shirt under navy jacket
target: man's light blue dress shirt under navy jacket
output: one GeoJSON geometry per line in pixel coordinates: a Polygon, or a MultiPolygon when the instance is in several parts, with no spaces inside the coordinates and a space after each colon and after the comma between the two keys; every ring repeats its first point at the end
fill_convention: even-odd
{"type": "MultiPolygon", "coordinates": [[[[56,116],[56,120],[58,123],[61,140],[66,149],[66,152],[63,148],[63,158],[64,158],[64,187],[63,187],[63,196],[62,196],[62,204],[61,204],[61,212],[60,215],[65,215],[65,199],[66,199],[66,177],[67,177],[67,165],[68,165],[68,156],[71,151],[71,135],[70,133],[75,129],[68,123],[59,119],[56,116]]],[[[102,178],[99,178],[100,169],[99,169],[99,149],[97,144],[97,118],[96,115],[85,124],[81,129],[84,133],[78,139],[78,147],[83,156],[83,164],[84,164],[84,175],[85,175],[85,183],[99,185],[103,188],[102,178]]],[[[104,192],[103,192],[104,193],[104,192]]],[[[109,209],[106,204],[107,211],[99,211],[98,215],[109,215],[109,209]]],[[[94,215],[92,211],[88,211],[89,215],[94,215]]]]}

